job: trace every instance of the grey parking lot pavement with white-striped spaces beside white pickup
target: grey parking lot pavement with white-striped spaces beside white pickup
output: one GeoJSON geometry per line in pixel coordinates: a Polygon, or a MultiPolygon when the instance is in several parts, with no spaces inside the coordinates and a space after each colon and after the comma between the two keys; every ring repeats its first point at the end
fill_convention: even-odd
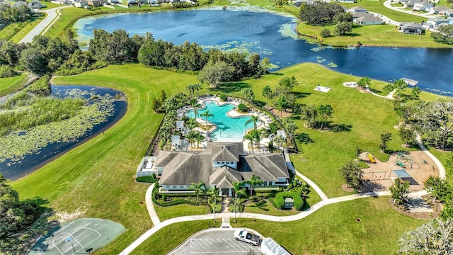
{"type": "Polygon", "coordinates": [[[260,253],[259,246],[236,241],[233,238],[234,230],[212,229],[210,232],[202,232],[191,237],[181,245],[172,255],[183,254],[228,254],[243,255],[253,250],[255,254],[260,253]]]}

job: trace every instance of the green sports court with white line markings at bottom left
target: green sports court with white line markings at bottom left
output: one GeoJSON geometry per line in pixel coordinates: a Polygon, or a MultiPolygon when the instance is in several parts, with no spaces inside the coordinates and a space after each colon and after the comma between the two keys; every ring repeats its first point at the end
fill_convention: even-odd
{"type": "Polygon", "coordinates": [[[30,254],[89,254],[112,242],[125,231],[125,227],[111,220],[71,220],[63,222],[38,240],[30,254]]]}

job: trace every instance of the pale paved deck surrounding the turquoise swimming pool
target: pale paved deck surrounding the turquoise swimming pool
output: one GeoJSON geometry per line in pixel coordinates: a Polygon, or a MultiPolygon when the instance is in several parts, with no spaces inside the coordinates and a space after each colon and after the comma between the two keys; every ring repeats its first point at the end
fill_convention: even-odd
{"type": "MultiPolygon", "coordinates": [[[[200,103],[200,105],[205,104],[205,102],[207,102],[207,101],[215,101],[219,106],[223,106],[223,105],[225,105],[227,103],[234,105],[235,108],[232,109],[231,111],[228,111],[226,113],[226,115],[228,115],[231,118],[237,118],[237,117],[241,117],[241,116],[257,115],[260,118],[260,124],[257,127],[258,129],[260,129],[260,128],[269,128],[269,124],[272,123],[272,119],[269,117],[269,115],[267,115],[267,114],[265,114],[263,112],[251,110],[248,113],[239,113],[239,111],[236,111],[237,110],[237,106],[239,106],[239,103],[242,103],[242,101],[240,99],[228,98],[227,101],[221,101],[219,96],[200,96],[200,97],[198,97],[198,103],[200,103]]],[[[187,113],[190,110],[193,110],[193,108],[191,106],[184,106],[183,108],[178,109],[178,111],[177,111],[178,119],[180,120],[181,118],[183,118],[185,113],[187,113]]],[[[206,120],[203,120],[202,118],[197,118],[197,122],[201,123],[201,124],[204,124],[204,123],[206,123],[206,120]]],[[[208,121],[208,123],[210,123],[210,122],[208,121]]],[[[210,130],[202,130],[201,128],[195,128],[194,130],[197,130],[202,135],[206,136],[207,132],[211,133],[211,132],[214,132],[214,130],[217,129],[217,126],[214,123],[210,123],[210,124],[212,125],[212,128],[210,130]]],[[[248,132],[248,130],[246,130],[246,132],[248,132]]],[[[249,145],[249,141],[248,140],[244,140],[243,141],[244,152],[246,152],[246,153],[267,152],[265,148],[268,146],[269,141],[270,141],[269,138],[267,138],[267,137],[263,138],[262,140],[260,140],[259,148],[253,148],[253,150],[252,150],[252,149],[248,149],[249,148],[249,146],[248,146],[249,145]]],[[[216,142],[229,142],[229,141],[228,140],[217,140],[216,142]]],[[[233,141],[231,141],[231,142],[233,142],[233,141]]],[[[234,142],[240,142],[240,141],[234,141],[234,142]]],[[[201,147],[201,149],[205,149],[206,148],[206,142],[202,142],[200,147],[201,147]]],[[[190,146],[182,146],[180,149],[181,150],[188,150],[188,149],[190,149],[190,146]]]]}

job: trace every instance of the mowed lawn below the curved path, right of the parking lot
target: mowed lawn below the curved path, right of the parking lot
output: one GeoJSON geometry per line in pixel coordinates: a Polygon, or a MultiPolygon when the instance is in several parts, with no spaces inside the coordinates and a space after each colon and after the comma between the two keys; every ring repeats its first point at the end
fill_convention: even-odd
{"type": "Polygon", "coordinates": [[[357,251],[381,255],[396,254],[401,234],[423,222],[401,215],[390,207],[389,197],[381,197],[326,205],[294,222],[239,219],[238,223],[231,221],[231,226],[272,237],[292,254],[357,251]],[[356,222],[357,218],[362,221],[356,222]]]}

